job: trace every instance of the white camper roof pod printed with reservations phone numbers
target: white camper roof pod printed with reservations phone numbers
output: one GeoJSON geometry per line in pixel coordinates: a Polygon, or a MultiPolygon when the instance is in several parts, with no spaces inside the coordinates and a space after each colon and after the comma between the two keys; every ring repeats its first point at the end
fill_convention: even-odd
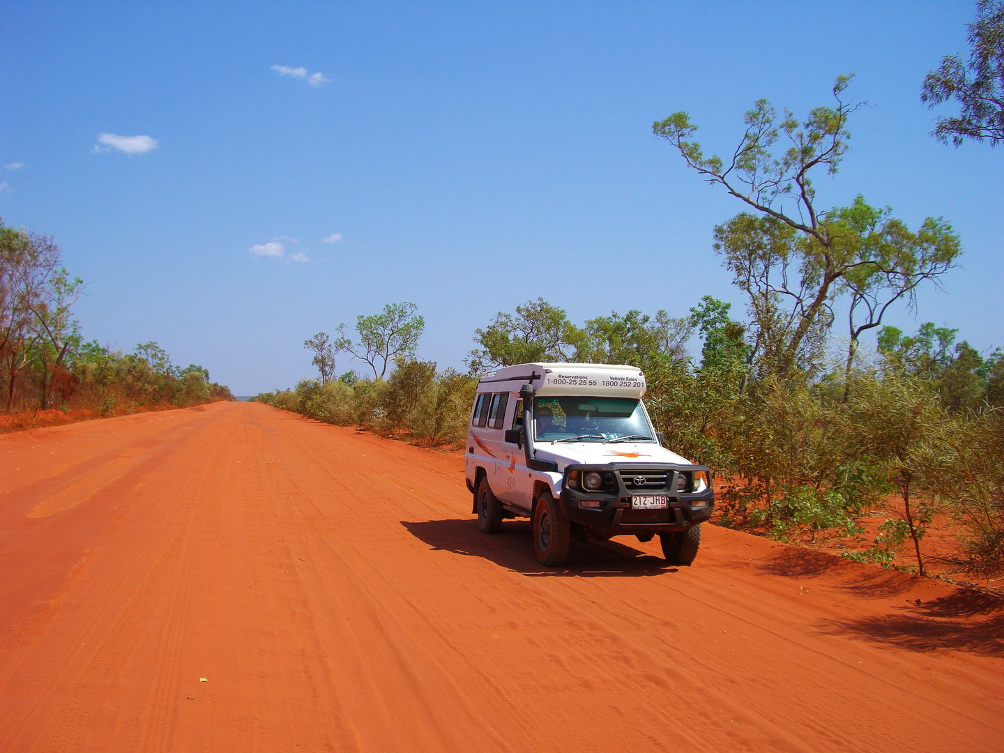
{"type": "MultiPolygon", "coordinates": [[[[608,363],[520,363],[504,366],[481,379],[485,383],[532,385],[536,395],[605,395],[645,397],[645,374],[637,366],[608,363]]],[[[518,391],[518,388],[516,388],[518,391]]]]}

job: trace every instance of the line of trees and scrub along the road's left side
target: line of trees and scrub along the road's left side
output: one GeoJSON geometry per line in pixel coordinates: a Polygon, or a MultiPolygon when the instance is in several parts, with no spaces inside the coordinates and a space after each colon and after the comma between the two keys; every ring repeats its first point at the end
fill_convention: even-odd
{"type": "Polygon", "coordinates": [[[84,342],[71,308],[83,282],[47,236],[0,221],[0,405],[21,411],[88,409],[103,416],[154,406],[231,400],[209,371],[172,365],[156,342],[134,352],[84,342]]]}

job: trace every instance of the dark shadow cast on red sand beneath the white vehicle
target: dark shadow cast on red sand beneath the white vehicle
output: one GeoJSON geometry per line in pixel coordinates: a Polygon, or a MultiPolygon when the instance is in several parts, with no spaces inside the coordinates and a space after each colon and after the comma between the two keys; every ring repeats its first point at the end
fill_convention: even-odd
{"type": "Polygon", "coordinates": [[[489,536],[478,530],[473,518],[401,521],[408,531],[433,549],[481,557],[528,576],[611,577],[662,575],[678,569],[662,557],[618,541],[572,541],[568,561],[561,567],[544,567],[533,551],[530,522],[506,521],[502,532],[489,536]]]}

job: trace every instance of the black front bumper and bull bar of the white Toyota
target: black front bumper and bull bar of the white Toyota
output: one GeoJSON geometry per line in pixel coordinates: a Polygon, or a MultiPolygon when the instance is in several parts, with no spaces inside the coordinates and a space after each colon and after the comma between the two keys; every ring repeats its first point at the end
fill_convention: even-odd
{"type": "Polygon", "coordinates": [[[637,463],[616,463],[602,466],[568,466],[561,484],[558,500],[561,510],[573,523],[589,528],[617,534],[669,533],[685,531],[691,526],[703,523],[711,517],[715,509],[715,491],[711,484],[711,469],[707,466],[691,465],[641,465],[637,463]],[[632,488],[624,481],[624,474],[640,475],[655,471],[666,471],[667,481],[662,487],[646,486],[632,488]],[[605,491],[588,492],[569,488],[568,475],[578,471],[579,478],[586,471],[607,472],[612,475],[613,484],[605,491]],[[679,473],[704,471],[708,474],[708,487],[701,492],[678,492],[679,473]],[[631,499],[636,494],[665,494],[667,507],[662,510],[632,509],[631,499]],[[583,507],[582,502],[598,502],[599,507],[583,507]]]}

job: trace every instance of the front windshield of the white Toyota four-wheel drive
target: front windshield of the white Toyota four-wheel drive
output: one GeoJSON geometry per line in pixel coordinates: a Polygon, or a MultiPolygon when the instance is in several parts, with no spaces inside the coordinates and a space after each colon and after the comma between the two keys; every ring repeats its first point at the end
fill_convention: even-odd
{"type": "Polygon", "coordinates": [[[635,398],[538,398],[536,432],[540,442],[654,440],[642,401],[635,398]]]}

